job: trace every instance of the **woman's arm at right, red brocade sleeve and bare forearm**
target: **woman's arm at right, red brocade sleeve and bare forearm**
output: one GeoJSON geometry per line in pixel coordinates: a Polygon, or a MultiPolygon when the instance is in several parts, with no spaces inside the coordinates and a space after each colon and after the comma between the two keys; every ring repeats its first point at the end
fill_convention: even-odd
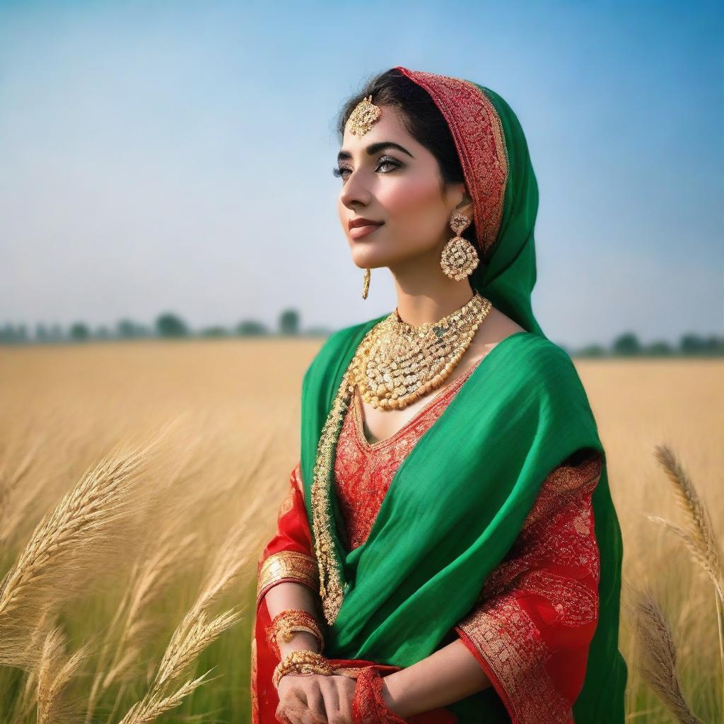
{"type": "Polygon", "coordinates": [[[494,686],[513,724],[568,720],[597,625],[591,496],[601,472],[590,451],[552,471],[479,603],[455,626],[460,639],[384,677],[393,712],[408,717],[494,686]]]}

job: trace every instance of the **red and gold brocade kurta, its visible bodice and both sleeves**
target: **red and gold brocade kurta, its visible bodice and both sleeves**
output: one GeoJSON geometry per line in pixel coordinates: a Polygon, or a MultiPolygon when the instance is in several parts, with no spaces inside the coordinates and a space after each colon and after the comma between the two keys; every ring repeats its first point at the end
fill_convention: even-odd
{"type": "MultiPolygon", "coordinates": [[[[420,437],[442,414],[480,362],[434,395],[392,437],[366,439],[358,392],[342,424],[334,464],[337,498],[350,549],[365,542],[390,481],[420,437]]],[[[580,455],[555,468],[542,484],[521,534],[487,578],[479,602],[458,626],[505,704],[513,724],[571,724],[598,620],[599,557],[591,495],[602,472],[599,455],[580,455]]],[[[300,467],[279,508],[277,534],[258,562],[252,641],[252,721],[275,724],[279,699],[271,684],[277,665],[266,644],[264,594],[282,581],[319,593],[316,558],[304,505],[300,467]]],[[[450,712],[411,717],[429,724],[450,712]]]]}

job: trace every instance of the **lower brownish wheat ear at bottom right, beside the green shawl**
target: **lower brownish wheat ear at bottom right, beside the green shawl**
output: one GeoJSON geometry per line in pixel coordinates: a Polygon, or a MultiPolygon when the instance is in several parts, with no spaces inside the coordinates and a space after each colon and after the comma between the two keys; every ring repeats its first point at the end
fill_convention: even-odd
{"type": "Polygon", "coordinates": [[[703,724],[696,717],[681,691],[676,669],[676,647],[668,623],[651,590],[635,591],[631,612],[639,644],[639,670],[654,693],[681,724],[703,724]]]}

